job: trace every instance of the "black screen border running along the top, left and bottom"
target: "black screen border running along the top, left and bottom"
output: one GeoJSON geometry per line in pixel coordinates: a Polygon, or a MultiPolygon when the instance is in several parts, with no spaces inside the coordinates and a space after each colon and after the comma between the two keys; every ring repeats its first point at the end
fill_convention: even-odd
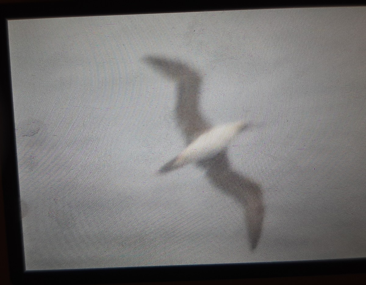
{"type": "MultiPolygon", "coordinates": [[[[15,123],[11,92],[10,57],[8,48],[8,19],[53,18],[69,16],[150,14],[166,12],[220,11],[236,9],[269,9],[300,7],[353,6],[288,4],[264,6],[261,3],[245,7],[225,4],[163,5],[145,4],[128,8],[116,7],[115,1],[54,1],[0,5],[0,130],[1,130],[1,175],[4,195],[5,225],[9,253],[11,280],[14,284],[97,284],[143,281],[186,281],[237,278],[263,278],[284,276],[310,276],[324,274],[365,273],[366,258],[332,259],[316,261],[256,262],[216,265],[183,265],[123,267],[107,269],[72,270],[25,270],[22,225],[20,220],[20,194],[18,165],[15,147],[15,123]]],[[[123,3],[119,4],[123,5],[123,3]]]]}

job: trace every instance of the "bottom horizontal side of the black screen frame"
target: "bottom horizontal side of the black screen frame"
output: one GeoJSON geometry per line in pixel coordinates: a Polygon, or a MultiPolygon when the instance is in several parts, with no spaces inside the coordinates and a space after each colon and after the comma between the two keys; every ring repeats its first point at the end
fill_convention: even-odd
{"type": "Polygon", "coordinates": [[[116,282],[158,282],[274,278],[329,274],[356,274],[363,271],[365,258],[316,261],[228,263],[217,265],[176,265],[109,269],[28,271],[27,284],[113,284],[116,282]],[[345,269],[347,272],[345,272],[345,269]],[[188,274],[187,274],[188,273],[188,274]],[[67,276],[65,278],[65,276],[67,276]],[[121,276],[125,276],[122,277],[121,276]],[[128,276],[128,277],[126,277],[128,276]],[[72,280],[70,282],[70,280],[72,280]]]}

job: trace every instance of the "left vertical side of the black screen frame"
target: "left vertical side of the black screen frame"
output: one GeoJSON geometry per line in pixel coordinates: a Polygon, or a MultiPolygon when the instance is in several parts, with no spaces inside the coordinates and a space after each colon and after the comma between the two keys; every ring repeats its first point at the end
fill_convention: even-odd
{"type": "Polygon", "coordinates": [[[14,284],[22,281],[25,272],[20,218],[20,193],[18,164],[16,159],[14,107],[11,91],[10,53],[8,44],[7,9],[0,13],[0,38],[6,39],[0,46],[0,130],[1,130],[1,186],[4,201],[6,242],[10,279],[14,284]]]}

